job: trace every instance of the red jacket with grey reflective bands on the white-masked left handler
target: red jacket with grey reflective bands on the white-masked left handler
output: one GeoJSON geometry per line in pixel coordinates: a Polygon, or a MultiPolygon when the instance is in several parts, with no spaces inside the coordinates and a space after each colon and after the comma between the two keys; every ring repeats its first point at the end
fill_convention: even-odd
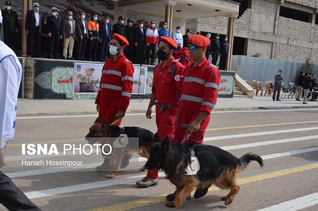
{"type": "Polygon", "coordinates": [[[109,101],[117,101],[118,110],[126,111],[133,91],[134,67],[122,53],[116,61],[108,59],[102,70],[100,87],[95,100],[99,110],[107,109],[109,101]]]}

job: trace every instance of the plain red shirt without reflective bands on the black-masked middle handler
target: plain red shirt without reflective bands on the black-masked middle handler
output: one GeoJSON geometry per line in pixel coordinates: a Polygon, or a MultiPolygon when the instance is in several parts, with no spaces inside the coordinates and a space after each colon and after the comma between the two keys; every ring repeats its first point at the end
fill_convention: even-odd
{"type": "Polygon", "coordinates": [[[154,69],[152,94],[157,96],[159,104],[178,103],[176,89],[179,92],[179,97],[181,96],[184,66],[176,61],[174,66],[175,77],[173,78],[172,73],[168,73],[173,61],[174,58],[172,57],[163,69],[162,62],[154,69]]]}

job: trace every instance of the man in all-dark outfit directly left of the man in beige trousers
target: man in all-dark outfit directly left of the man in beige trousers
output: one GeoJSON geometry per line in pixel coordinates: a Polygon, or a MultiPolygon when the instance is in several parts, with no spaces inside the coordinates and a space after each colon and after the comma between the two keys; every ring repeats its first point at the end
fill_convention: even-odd
{"type": "Polygon", "coordinates": [[[56,7],[52,7],[52,15],[48,17],[46,23],[46,29],[48,32],[48,58],[49,59],[59,59],[58,50],[60,47],[61,35],[61,18],[58,16],[58,11],[56,7]]]}

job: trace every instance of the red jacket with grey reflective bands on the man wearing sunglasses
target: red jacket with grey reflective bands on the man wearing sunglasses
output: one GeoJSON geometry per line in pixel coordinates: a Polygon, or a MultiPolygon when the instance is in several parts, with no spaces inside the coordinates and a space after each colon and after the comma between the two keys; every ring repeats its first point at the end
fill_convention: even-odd
{"type": "Polygon", "coordinates": [[[210,113],[217,103],[221,75],[205,57],[198,66],[192,67],[193,64],[188,65],[184,70],[180,109],[196,117],[194,111],[210,113]]]}

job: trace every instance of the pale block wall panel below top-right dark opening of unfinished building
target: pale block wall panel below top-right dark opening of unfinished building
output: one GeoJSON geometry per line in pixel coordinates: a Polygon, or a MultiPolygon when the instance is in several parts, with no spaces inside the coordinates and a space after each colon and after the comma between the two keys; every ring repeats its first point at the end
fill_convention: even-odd
{"type": "Polygon", "coordinates": [[[278,36],[309,41],[311,23],[279,16],[278,36]]]}

